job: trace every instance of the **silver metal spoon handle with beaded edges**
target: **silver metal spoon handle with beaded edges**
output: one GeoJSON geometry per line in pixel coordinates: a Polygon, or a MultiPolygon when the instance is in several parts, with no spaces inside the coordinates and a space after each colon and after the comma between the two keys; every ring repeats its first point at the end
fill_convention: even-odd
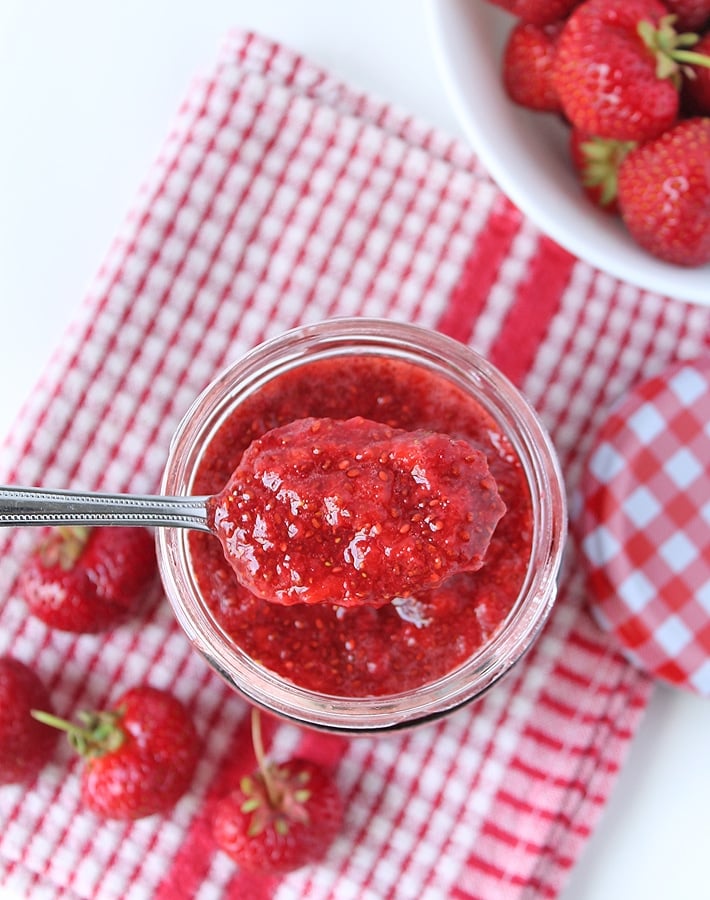
{"type": "Polygon", "coordinates": [[[0,526],[166,525],[210,531],[208,499],[0,486],[0,526]]]}

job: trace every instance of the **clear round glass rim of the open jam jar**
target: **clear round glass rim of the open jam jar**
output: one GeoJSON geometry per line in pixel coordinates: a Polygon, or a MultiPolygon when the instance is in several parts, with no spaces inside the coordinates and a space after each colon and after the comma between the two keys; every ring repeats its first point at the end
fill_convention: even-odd
{"type": "MultiPolygon", "coordinates": [[[[252,703],[301,725],[348,734],[421,724],[481,697],[498,682],[530,647],[551,611],[567,528],[555,451],[520,392],[463,344],[419,326],[381,319],[307,325],[261,344],[226,369],[178,427],[163,493],[195,493],[195,473],[216,431],[267,383],[314,361],[347,363],[370,355],[422,367],[472,396],[509,439],[527,480],[532,549],[522,587],[498,631],[463,664],[421,687],[381,696],[333,696],[300,687],[252,659],[217,623],[193,570],[189,533],[170,528],[158,533],[158,561],[168,599],[209,664],[252,703]]],[[[317,385],[313,390],[317,392],[317,385]]]]}

